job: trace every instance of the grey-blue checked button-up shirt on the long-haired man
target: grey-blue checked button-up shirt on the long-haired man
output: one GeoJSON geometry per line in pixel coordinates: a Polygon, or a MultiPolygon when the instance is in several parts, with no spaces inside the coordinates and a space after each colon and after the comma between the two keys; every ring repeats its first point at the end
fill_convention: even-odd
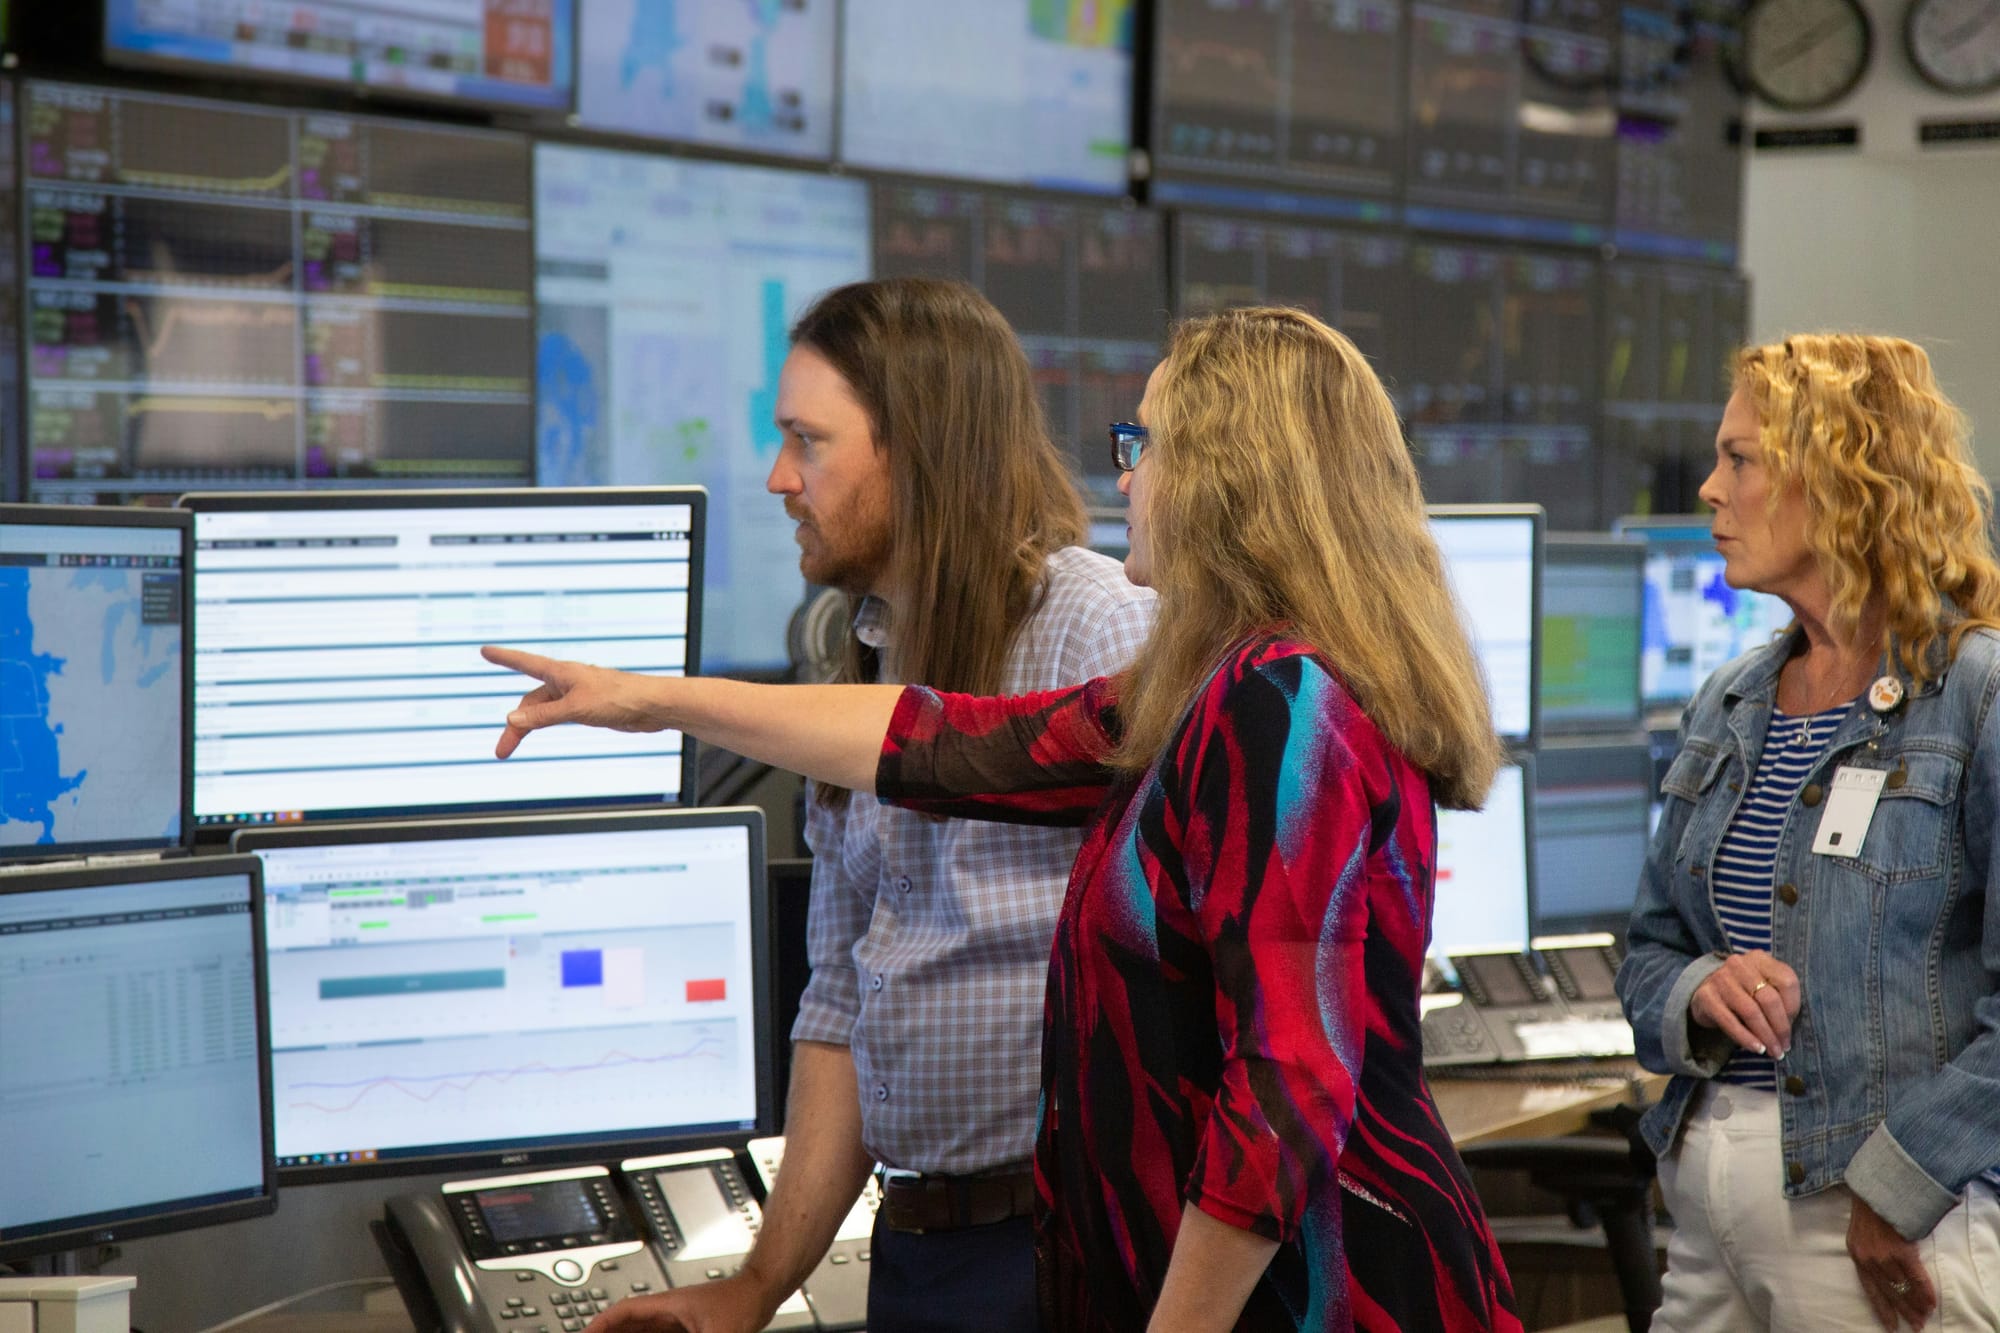
{"type": "MultiPolygon", "coordinates": [[[[1068,546],[1014,636],[1004,695],[1124,671],[1154,596],[1116,560],[1068,546]]],[[[886,642],[886,606],[862,602],[862,642],[886,642]]],[[[928,819],[856,793],[806,797],[812,981],[792,1041],[850,1047],[862,1143],[906,1171],[968,1175],[1034,1155],[1042,995],[1080,829],[928,819]]]]}

